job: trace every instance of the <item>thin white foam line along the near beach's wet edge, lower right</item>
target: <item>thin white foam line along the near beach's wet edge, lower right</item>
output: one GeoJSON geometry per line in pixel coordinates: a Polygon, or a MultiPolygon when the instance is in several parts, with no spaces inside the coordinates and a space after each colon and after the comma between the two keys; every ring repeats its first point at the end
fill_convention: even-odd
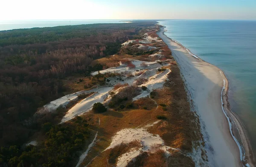
{"type": "MultiPolygon", "coordinates": [[[[237,146],[239,147],[240,160],[241,160],[241,161],[244,161],[244,155],[243,155],[243,152],[242,152],[242,147],[241,147],[240,143],[238,142],[238,140],[236,139],[236,137],[235,137],[235,136],[233,135],[233,133],[232,133],[232,124],[231,124],[231,122],[230,122],[230,118],[227,116],[227,113],[226,113],[226,111],[224,110],[224,102],[223,102],[222,93],[223,93],[223,91],[224,91],[224,89],[225,89],[225,83],[226,83],[226,80],[223,79],[223,88],[222,88],[222,91],[221,91],[221,108],[222,108],[222,111],[223,111],[223,113],[225,114],[225,116],[226,116],[226,118],[227,118],[227,121],[228,121],[228,124],[229,124],[229,127],[230,127],[231,136],[233,137],[233,139],[235,140],[237,146]]],[[[243,167],[244,167],[244,164],[242,164],[242,165],[243,165],[243,167]]],[[[246,164],[246,166],[247,166],[247,167],[250,167],[249,164],[246,164]]]]}

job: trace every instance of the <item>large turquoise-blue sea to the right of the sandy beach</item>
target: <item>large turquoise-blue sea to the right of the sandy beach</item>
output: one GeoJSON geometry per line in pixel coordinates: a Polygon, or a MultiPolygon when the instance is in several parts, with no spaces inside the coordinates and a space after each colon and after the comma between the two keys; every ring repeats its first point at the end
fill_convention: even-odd
{"type": "Polygon", "coordinates": [[[230,81],[229,101],[249,134],[256,153],[256,21],[167,20],[165,34],[205,61],[221,68],[230,81]]]}

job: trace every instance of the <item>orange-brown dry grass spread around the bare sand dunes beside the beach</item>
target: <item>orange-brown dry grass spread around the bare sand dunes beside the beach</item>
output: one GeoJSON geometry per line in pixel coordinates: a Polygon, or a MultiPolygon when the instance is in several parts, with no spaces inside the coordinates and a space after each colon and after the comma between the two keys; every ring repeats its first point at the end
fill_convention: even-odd
{"type": "MultiPolygon", "coordinates": [[[[148,28],[141,31],[143,34],[148,33],[151,37],[158,37],[156,29],[148,28]]],[[[163,55],[166,58],[172,59],[172,52],[163,42],[155,42],[154,45],[163,50],[163,55]]],[[[99,60],[102,63],[111,61],[112,58],[104,58],[99,60]],[[104,60],[104,61],[102,61],[104,60]]],[[[150,61],[148,56],[131,56],[131,55],[118,55],[114,60],[121,61],[128,65],[129,59],[139,59],[150,61]]],[[[99,140],[92,151],[89,152],[83,165],[87,165],[91,159],[93,161],[88,167],[112,167],[116,163],[118,156],[126,153],[131,146],[121,144],[110,150],[102,152],[111,143],[111,137],[116,132],[124,128],[143,127],[149,123],[157,121],[157,115],[166,116],[166,120],[162,120],[157,125],[148,128],[152,134],[158,134],[167,146],[180,148],[182,151],[189,152],[192,150],[192,142],[202,139],[200,125],[194,113],[190,112],[189,102],[187,102],[186,91],[184,89],[183,80],[180,77],[180,71],[176,63],[172,63],[168,68],[171,73],[168,78],[171,82],[166,82],[164,88],[158,89],[155,92],[154,100],[157,104],[165,104],[166,110],[162,106],[157,108],[155,102],[146,97],[134,101],[134,108],[124,109],[122,112],[108,110],[102,114],[96,114],[101,119],[99,127],[99,140]],[[156,109],[157,108],[157,109],[156,109]],[[102,152],[102,153],[101,153],[102,152]],[[100,154],[99,154],[100,153],[100,154]],[[110,162],[111,161],[111,162],[110,162]]],[[[141,88],[136,86],[127,86],[121,88],[117,93],[119,98],[129,96],[129,100],[140,93],[141,88]]],[[[136,144],[135,144],[136,145],[136,144]]],[[[132,146],[134,147],[134,146],[132,146]]],[[[177,151],[172,151],[172,155],[166,158],[165,152],[160,149],[159,145],[151,147],[152,153],[142,153],[134,161],[131,161],[127,167],[194,167],[195,164],[188,156],[183,156],[177,151]]]]}

